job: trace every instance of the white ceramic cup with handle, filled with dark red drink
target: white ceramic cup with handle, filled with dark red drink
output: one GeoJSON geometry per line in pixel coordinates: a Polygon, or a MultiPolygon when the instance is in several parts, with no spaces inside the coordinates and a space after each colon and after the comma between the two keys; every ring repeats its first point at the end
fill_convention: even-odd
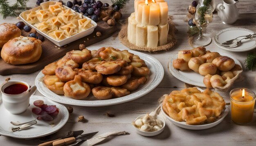
{"type": "Polygon", "coordinates": [[[2,102],[4,108],[7,109],[11,114],[21,114],[24,113],[29,106],[29,98],[36,91],[36,86],[29,86],[26,82],[23,81],[9,81],[2,85],[2,102]],[[13,84],[24,84],[27,86],[27,91],[20,94],[6,94],[4,89],[13,84]]]}

